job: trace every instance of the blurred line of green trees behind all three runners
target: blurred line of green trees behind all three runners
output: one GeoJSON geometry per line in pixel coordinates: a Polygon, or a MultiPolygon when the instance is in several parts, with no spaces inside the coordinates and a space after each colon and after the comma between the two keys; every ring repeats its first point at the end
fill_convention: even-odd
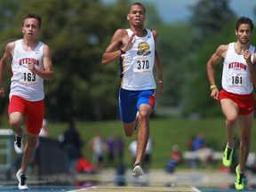
{"type": "MultiPolygon", "coordinates": [[[[102,4],[100,0],[0,2],[1,54],[8,42],[22,37],[25,14],[36,12],[43,18],[41,40],[51,47],[55,73],[54,81],[44,82],[46,118],[119,118],[118,64],[116,61],[105,68],[100,61],[116,29],[129,28],[129,4],[128,0],[115,4],[102,4]]],[[[145,5],[145,27],[159,33],[157,50],[164,69],[165,92],[156,90],[156,116],[169,116],[170,108],[179,110],[178,116],[220,116],[219,106],[210,98],[206,62],[219,44],[236,40],[237,18],[229,1],[200,0],[190,7],[193,15],[188,22],[172,24],[162,22],[152,4],[145,5]]],[[[3,84],[7,94],[10,65],[3,84]]],[[[8,100],[8,96],[0,100],[1,122],[7,117],[8,100]]]]}

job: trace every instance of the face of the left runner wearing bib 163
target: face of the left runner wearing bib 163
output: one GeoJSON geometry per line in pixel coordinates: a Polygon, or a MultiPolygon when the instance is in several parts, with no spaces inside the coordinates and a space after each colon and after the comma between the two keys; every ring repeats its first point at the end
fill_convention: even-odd
{"type": "Polygon", "coordinates": [[[28,39],[37,37],[40,33],[38,20],[34,18],[24,20],[21,30],[24,36],[28,39]]]}

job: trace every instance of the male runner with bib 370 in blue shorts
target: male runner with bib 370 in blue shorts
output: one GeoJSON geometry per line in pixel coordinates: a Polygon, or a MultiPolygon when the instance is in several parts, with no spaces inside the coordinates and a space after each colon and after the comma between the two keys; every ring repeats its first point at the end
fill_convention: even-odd
{"type": "Polygon", "coordinates": [[[130,28],[116,30],[102,56],[102,64],[108,65],[119,58],[119,109],[124,132],[128,137],[132,137],[137,123],[136,114],[139,111],[137,157],[132,168],[132,176],[138,178],[143,174],[141,163],[148,143],[149,115],[155,106],[154,66],[161,92],[164,92],[164,84],[156,52],[157,32],[144,28],[145,7],[140,3],[130,5],[127,20],[130,22],[130,28]]]}

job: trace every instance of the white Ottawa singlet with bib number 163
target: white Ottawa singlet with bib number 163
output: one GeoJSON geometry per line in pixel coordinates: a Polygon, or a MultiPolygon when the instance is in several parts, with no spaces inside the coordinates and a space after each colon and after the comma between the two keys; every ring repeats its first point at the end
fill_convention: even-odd
{"type": "Polygon", "coordinates": [[[27,52],[22,46],[22,39],[15,43],[12,57],[12,95],[18,95],[25,100],[37,101],[44,99],[44,79],[28,70],[28,61],[36,63],[35,68],[44,69],[44,43],[39,42],[33,52],[27,52]]]}

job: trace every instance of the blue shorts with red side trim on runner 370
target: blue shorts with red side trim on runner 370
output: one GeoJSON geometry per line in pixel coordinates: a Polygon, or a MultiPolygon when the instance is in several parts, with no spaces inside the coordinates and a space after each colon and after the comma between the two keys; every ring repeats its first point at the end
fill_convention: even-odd
{"type": "Polygon", "coordinates": [[[129,91],[119,90],[119,113],[125,124],[132,123],[141,104],[147,104],[152,109],[155,106],[155,90],[129,91]]]}

